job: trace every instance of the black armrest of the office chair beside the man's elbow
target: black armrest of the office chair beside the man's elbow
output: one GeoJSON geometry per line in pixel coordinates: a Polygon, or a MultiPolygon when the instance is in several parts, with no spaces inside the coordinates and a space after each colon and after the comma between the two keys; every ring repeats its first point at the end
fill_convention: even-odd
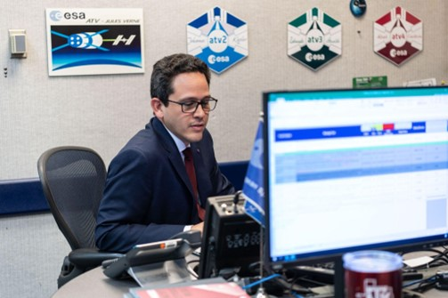
{"type": "Polygon", "coordinates": [[[78,248],[70,252],[69,261],[77,267],[94,268],[100,266],[103,261],[121,256],[123,254],[101,252],[97,248],[78,248]]]}

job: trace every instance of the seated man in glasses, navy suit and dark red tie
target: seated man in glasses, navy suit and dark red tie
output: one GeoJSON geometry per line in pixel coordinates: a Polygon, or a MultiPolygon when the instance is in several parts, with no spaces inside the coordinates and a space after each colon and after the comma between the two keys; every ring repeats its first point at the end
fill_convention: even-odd
{"type": "Polygon", "coordinates": [[[207,64],[191,55],[174,54],[154,64],[154,117],[110,162],[95,230],[101,250],[125,253],[136,244],[202,230],[207,197],[234,192],[206,129],[217,102],[209,83],[207,64]],[[190,159],[185,148],[191,148],[190,159]],[[192,158],[196,181],[184,158],[185,164],[192,158]]]}

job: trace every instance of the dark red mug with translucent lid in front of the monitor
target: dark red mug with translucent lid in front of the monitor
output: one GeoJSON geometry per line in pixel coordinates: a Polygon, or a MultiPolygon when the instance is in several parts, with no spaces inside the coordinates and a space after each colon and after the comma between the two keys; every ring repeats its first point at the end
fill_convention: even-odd
{"type": "Polygon", "coordinates": [[[383,251],[344,254],[346,298],[402,297],[403,259],[383,251]]]}

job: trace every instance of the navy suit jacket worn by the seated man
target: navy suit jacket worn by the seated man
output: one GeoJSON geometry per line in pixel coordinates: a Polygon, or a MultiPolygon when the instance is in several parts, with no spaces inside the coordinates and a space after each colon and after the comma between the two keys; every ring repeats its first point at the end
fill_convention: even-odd
{"type": "MultiPolygon", "coordinates": [[[[191,143],[200,204],[234,193],[216,163],[206,130],[191,143]]],[[[135,134],[110,162],[97,216],[96,246],[125,253],[136,244],[165,240],[199,223],[191,182],[175,141],[158,118],[135,134]]]]}

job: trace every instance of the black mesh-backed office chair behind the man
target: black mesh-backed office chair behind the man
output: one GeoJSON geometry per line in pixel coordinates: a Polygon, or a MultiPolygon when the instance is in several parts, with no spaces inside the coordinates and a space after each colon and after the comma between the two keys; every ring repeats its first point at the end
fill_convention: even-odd
{"type": "Polygon", "coordinates": [[[64,258],[58,287],[70,279],[122,256],[100,252],[94,244],[96,214],[106,181],[106,167],[94,150],[58,147],[45,151],[37,172],[59,229],[72,251],[64,258]]]}

